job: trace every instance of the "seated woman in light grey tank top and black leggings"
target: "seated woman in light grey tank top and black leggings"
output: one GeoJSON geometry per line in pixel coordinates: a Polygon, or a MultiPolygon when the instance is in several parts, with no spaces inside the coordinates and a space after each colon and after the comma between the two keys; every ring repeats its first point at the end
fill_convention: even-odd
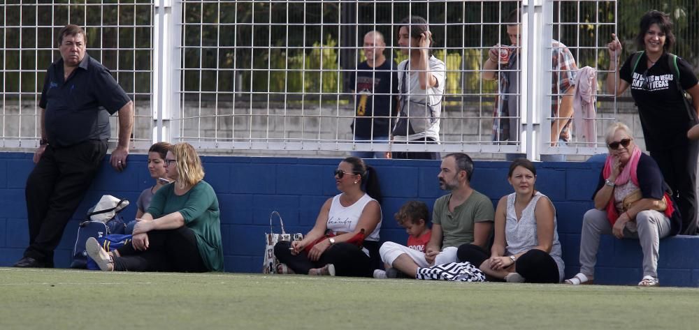
{"type": "Polygon", "coordinates": [[[514,160],[507,174],[514,193],[503,196],[495,211],[495,241],[490,253],[479,246],[459,246],[457,257],[475,264],[490,279],[506,282],[559,283],[563,280],[556,209],[534,188],[536,168],[526,158],[514,160]]]}

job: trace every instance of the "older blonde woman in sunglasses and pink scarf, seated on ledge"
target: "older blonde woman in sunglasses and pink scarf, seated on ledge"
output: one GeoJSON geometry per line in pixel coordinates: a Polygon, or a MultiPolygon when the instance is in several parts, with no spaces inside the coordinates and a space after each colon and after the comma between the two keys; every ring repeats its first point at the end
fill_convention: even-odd
{"type": "Polygon", "coordinates": [[[614,123],[606,142],[609,156],[593,196],[595,208],[582,220],[580,272],[565,283],[592,283],[600,234],[613,234],[617,239],[638,239],[643,251],[638,285],[658,285],[660,239],[676,235],[682,219],[658,164],[636,146],[628,126],[614,123]]]}

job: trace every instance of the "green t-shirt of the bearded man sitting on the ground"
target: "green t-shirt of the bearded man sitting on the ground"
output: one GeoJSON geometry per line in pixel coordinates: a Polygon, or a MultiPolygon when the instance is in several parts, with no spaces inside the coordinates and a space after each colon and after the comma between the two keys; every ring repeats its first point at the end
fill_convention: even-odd
{"type": "Polygon", "coordinates": [[[435,200],[432,223],[442,226],[442,248],[459,247],[461,244],[473,243],[473,225],[483,221],[493,221],[495,210],[490,199],[473,190],[466,202],[449,211],[449,199],[452,194],[435,200]]]}

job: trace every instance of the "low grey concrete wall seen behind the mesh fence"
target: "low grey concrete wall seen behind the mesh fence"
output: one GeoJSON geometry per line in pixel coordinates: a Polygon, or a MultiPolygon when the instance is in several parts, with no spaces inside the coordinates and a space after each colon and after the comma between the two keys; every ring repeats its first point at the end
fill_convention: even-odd
{"type": "MultiPolygon", "coordinates": [[[[623,121],[633,131],[635,142],[644,149],[643,133],[638,119],[635,105],[631,102],[617,103],[617,110],[613,103],[600,102],[596,121],[598,141],[604,140],[606,127],[611,123],[611,118],[623,121]]],[[[143,141],[152,136],[151,109],[147,103],[137,103],[134,136],[143,141]]],[[[350,124],[353,121],[354,105],[308,103],[303,108],[294,103],[285,105],[271,103],[266,107],[264,103],[250,105],[244,103],[233,104],[231,102],[217,100],[216,102],[202,100],[201,102],[187,101],[183,104],[182,137],[217,138],[246,140],[246,139],[294,139],[318,137],[321,140],[352,140],[350,124]],[[233,116],[235,114],[235,116],[233,116]],[[221,117],[223,116],[223,117],[221,117]],[[198,118],[199,117],[199,118],[198,118]]],[[[6,136],[19,136],[24,138],[34,137],[36,116],[34,115],[36,104],[25,101],[5,105],[4,126],[6,136]],[[21,111],[20,111],[21,110],[21,111]],[[10,120],[11,119],[11,120],[10,120]]],[[[493,121],[491,105],[487,103],[474,103],[464,101],[463,105],[445,105],[440,120],[440,138],[443,141],[489,141],[493,121]]],[[[117,136],[117,117],[110,117],[112,137],[115,142],[117,136]]],[[[575,136],[574,136],[575,140],[575,136]]],[[[33,148],[30,146],[29,148],[33,148]]],[[[26,151],[19,149],[14,151],[26,151]]],[[[214,150],[217,155],[225,156],[285,156],[285,157],[327,157],[336,158],[345,155],[344,151],[333,150],[214,150]]],[[[474,159],[503,160],[500,153],[481,153],[474,155],[474,159]]],[[[585,160],[584,155],[570,155],[568,160],[585,160]]]]}

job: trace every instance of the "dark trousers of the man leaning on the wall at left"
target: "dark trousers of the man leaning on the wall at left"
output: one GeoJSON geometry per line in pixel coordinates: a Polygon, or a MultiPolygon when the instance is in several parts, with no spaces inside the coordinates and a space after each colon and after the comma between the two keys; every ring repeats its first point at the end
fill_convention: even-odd
{"type": "Polygon", "coordinates": [[[85,197],[106,151],[105,141],[46,147],[24,190],[29,220],[29,247],[24,257],[53,263],[53,251],[85,197]]]}

